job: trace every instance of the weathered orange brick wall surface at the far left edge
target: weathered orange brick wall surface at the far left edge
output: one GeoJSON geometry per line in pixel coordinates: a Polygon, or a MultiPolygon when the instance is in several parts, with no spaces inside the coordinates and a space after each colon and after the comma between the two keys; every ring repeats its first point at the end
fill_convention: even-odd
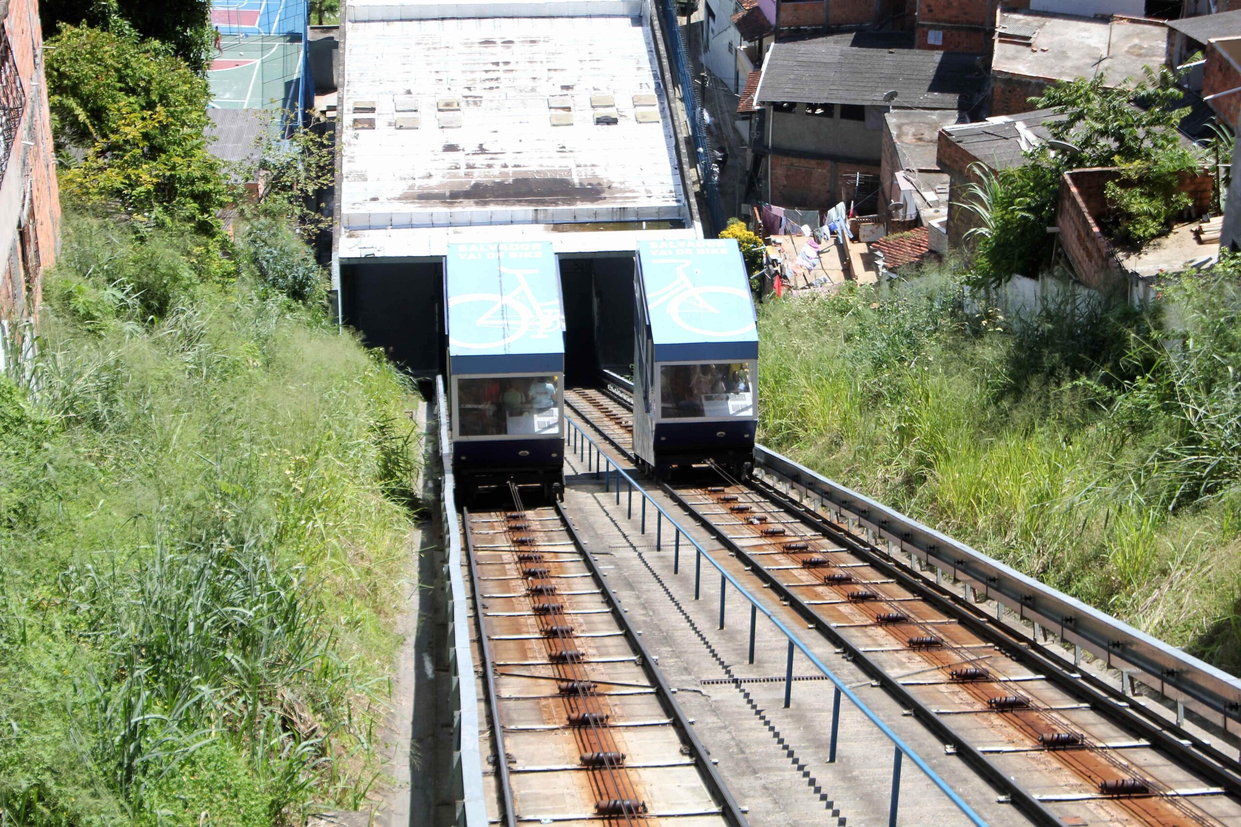
{"type": "Polygon", "coordinates": [[[38,0],[11,0],[4,27],[21,78],[25,109],[0,180],[0,317],[34,321],[42,301],[42,274],[60,252],[61,229],[38,0]],[[22,219],[25,259],[17,227],[22,219]]]}

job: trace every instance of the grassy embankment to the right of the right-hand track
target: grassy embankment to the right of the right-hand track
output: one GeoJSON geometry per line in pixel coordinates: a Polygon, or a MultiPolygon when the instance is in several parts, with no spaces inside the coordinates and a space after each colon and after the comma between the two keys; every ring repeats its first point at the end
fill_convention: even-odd
{"type": "Polygon", "coordinates": [[[927,275],[766,305],[761,439],[1241,670],[1236,276],[1174,288],[1170,338],[1126,311],[1014,334],[962,295],[927,275]]]}

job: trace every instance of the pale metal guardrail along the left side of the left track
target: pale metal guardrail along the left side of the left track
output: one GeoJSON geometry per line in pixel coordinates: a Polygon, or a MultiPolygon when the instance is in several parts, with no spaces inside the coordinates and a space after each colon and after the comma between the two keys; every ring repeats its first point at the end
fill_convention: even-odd
{"type": "Polygon", "coordinates": [[[439,534],[444,541],[444,585],[448,590],[448,668],[452,676],[453,709],[453,798],[457,827],[488,827],[483,798],[483,759],[479,750],[478,692],[474,687],[474,657],[469,642],[469,614],[462,578],[462,534],[457,523],[453,491],[453,448],[448,430],[448,397],[443,377],[436,377],[436,413],[439,418],[439,534]]]}

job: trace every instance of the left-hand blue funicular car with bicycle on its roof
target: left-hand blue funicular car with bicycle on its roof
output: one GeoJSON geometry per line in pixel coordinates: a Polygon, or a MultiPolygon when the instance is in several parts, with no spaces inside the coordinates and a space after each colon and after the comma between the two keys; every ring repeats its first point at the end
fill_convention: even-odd
{"type": "Polygon", "coordinates": [[[563,496],[565,314],[547,242],[449,244],[444,267],[458,496],[563,496]]]}

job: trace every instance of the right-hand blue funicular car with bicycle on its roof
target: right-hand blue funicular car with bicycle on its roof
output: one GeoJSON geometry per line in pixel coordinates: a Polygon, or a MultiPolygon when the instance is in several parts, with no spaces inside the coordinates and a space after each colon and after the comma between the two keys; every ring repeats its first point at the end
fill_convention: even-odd
{"type": "Polygon", "coordinates": [[[656,476],[705,462],[747,475],[758,327],[735,239],[638,244],[633,444],[656,476]]]}

